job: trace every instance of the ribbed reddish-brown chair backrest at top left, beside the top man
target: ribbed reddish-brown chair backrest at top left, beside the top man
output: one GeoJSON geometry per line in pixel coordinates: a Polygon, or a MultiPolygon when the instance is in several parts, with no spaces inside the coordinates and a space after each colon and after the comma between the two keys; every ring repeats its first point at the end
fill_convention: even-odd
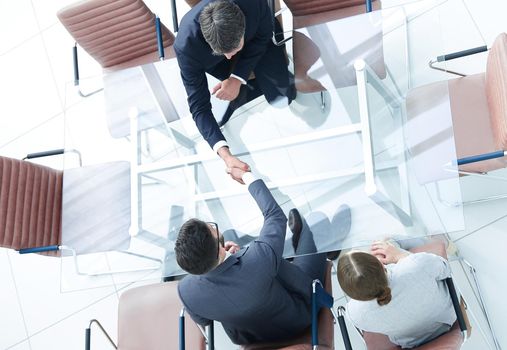
{"type": "MultiPolygon", "coordinates": [[[[57,13],[76,42],[108,70],[129,68],[159,60],[155,14],[142,0],[84,0],[57,13]]],[[[174,35],[161,26],[163,46],[174,35]]],[[[165,57],[174,57],[167,50],[165,57]]]]}

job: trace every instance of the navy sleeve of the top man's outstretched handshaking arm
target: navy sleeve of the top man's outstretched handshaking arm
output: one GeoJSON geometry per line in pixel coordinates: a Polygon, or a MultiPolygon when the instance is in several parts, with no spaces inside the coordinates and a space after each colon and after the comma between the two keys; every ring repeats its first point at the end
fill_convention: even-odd
{"type": "Polygon", "coordinates": [[[183,85],[187,91],[190,113],[192,113],[192,118],[202,137],[213,148],[217,142],[225,141],[225,137],[211,111],[211,95],[208,90],[206,73],[192,57],[177,49],[175,51],[183,85]]]}

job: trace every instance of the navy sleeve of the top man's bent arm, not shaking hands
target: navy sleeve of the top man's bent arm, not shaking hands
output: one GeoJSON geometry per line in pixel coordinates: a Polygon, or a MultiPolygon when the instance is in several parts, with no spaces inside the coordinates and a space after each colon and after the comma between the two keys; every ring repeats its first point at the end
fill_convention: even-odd
{"type": "Polygon", "coordinates": [[[273,35],[273,22],[271,11],[269,10],[266,0],[252,1],[256,6],[252,6],[251,10],[245,13],[246,17],[257,19],[257,30],[255,36],[245,43],[240,52],[240,57],[233,74],[248,81],[250,72],[252,72],[259,62],[259,59],[266,52],[273,35]]]}

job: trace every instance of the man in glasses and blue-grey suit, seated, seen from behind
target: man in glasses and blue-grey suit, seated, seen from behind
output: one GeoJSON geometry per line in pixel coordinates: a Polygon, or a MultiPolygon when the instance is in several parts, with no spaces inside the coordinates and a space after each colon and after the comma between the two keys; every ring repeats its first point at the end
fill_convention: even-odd
{"type": "MultiPolygon", "coordinates": [[[[190,275],[178,285],[180,299],[195,322],[221,322],[236,344],[287,340],[311,325],[312,281],[323,279],[326,254],[295,257],[292,263],[283,259],[285,214],[262,180],[233,171],[248,185],[264,225],[259,237],[239,250],[233,242],[223,242],[215,223],[184,223],[175,252],[190,275]]],[[[346,219],[342,224],[350,228],[350,209],[341,208],[347,214],[340,216],[346,219]]],[[[312,233],[296,209],[289,212],[289,228],[299,236],[296,254],[316,251],[312,233]]]]}

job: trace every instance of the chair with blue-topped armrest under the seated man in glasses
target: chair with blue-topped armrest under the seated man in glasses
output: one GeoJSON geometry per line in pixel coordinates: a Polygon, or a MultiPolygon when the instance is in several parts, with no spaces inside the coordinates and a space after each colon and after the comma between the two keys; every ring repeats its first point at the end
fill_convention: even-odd
{"type": "Polygon", "coordinates": [[[295,338],[284,342],[248,344],[242,350],[331,350],[334,349],[333,288],[331,284],[332,263],[328,262],[324,283],[313,281],[312,326],[295,338]],[[322,309],[321,309],[322,308],[322,309]],[[320,311],[319,311],[320,310],[320,311]]]}

